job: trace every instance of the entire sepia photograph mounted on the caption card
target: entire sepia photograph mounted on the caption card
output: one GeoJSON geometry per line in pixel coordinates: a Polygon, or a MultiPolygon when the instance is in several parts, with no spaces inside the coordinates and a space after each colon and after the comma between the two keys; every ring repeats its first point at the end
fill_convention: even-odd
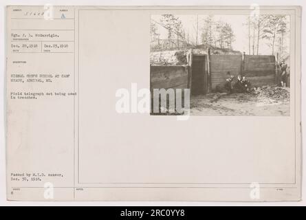
{"type": "Polygon", "coordinates": [[[166,95],[157,93],[151,105],[166,98],[166,106],[151,115],[180,114],[169,97],[188,89],[190,115],[289,116],[289,20],[256,13],[152,15],[151,92],[166,95]]]}

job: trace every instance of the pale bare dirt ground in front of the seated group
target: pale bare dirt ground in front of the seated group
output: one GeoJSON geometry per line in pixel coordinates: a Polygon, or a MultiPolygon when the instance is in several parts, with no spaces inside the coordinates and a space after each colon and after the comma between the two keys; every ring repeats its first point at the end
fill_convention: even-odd
{"type": "Polygon", "coordinates": [[[208,94],[190,98],[190,115],[290,115],[289,98],[282,100],[255,94],[208,94]]]}

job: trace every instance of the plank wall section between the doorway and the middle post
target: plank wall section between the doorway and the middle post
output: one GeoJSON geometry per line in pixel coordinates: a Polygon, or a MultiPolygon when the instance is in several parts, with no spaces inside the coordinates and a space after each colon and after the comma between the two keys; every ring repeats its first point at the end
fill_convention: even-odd
{"type": "Polygon", "coordinates": [[[210,55],[211,87],[216,88],[226,80],[226,73],[237,76],[241,74],[242,55],[210,55]]]}

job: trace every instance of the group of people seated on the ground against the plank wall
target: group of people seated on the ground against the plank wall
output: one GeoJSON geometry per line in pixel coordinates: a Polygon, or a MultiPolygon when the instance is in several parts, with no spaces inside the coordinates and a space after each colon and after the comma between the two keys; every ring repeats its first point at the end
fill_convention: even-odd
{"type": "Polygon", "coordinates": [[[247,80],[245,76],[238,75],[237,80],[234,81],[234,76],[230,75],[230,72],[226,74],[226,80],[220,83],[216,87],[216,91],[219,93],[246,93],[251,89],[250,80],[247,80]]]}

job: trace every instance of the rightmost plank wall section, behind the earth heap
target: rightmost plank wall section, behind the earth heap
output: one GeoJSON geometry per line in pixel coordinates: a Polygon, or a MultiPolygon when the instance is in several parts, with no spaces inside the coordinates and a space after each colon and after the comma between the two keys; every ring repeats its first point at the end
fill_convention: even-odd
{"type": "Polygon", "coordinates": [[[255,87],[275,84],[275,56],[245,55],[243,76],[255,87]]]}

